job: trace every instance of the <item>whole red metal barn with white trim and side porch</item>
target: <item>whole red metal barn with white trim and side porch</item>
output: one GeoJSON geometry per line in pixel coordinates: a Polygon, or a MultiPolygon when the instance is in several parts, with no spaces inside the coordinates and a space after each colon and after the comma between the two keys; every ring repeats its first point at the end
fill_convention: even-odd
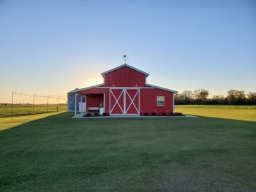
{"type": "Polygon", "coordinates": [[[100,111],[107,115],[162,115],[174,112],[174,93],[177,91],[146,83],[148,75],[127,64],[103,72],[102,84],[69,92],[69,96],[75,95],[75,102],[72,102],[71,97],[68,99],[69,110],[74,107],[73,111],[76,112],[79,101],[80,111],[86,113],[100,111]]]}

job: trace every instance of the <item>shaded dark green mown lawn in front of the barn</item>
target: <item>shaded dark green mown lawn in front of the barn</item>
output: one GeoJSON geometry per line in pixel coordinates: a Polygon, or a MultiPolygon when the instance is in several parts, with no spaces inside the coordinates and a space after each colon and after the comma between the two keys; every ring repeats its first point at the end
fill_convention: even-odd
{"type": "Polygon", "coordinates": [[[255,191],[256,123],[72,119],[0,131],[0,191],[255,191]]]}

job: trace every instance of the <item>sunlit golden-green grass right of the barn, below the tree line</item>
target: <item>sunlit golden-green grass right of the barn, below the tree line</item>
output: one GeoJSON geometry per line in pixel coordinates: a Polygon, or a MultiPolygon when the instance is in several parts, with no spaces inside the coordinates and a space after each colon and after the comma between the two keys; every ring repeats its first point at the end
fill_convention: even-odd
{"type": "Polygon", "coordinates": [[[175,110],[190,115],[256,121],[255,105],[176,105],[175,110]]]}

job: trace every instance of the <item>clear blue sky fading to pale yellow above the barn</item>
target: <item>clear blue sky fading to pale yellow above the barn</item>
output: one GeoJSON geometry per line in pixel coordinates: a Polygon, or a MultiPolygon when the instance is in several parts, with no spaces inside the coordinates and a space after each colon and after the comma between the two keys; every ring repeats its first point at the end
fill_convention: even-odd
{"type": "Polygon", "coordinates": [[[0,1],[0,102],[127,64],[182,92],[256,91],[256,1],[0,1]]]}

